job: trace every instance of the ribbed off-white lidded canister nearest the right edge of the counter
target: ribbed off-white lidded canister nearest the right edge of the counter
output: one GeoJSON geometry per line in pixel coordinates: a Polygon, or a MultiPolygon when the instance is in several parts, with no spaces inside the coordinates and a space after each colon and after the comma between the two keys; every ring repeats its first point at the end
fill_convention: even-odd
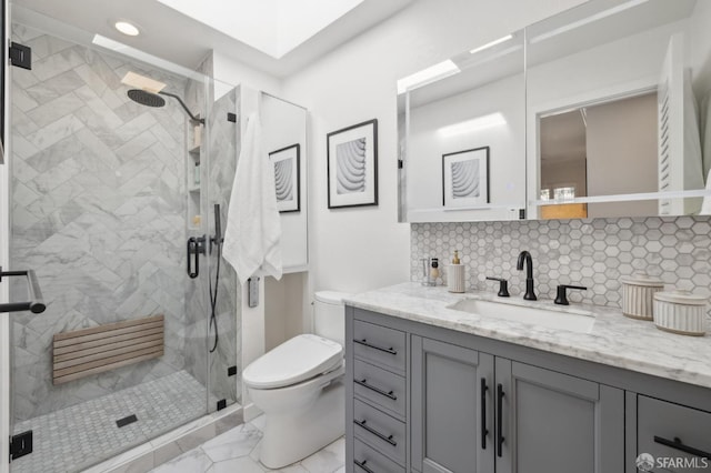
{"type": "Polygon", "coordinates": [[[654,294],[654,324],[659,330],[682,335],[701,336],[707,332],[709,298],[689,291],[654,294]]]}

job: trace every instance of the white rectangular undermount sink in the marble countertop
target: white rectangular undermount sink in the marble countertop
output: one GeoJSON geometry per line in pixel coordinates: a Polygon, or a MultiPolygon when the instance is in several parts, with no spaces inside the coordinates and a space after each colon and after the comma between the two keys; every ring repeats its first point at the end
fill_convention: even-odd
{"type": "MultiPolygon", "coordinates": [[[[543,304],[544,302],[541,302],[543,304]]],[[[463,299],[448,305],[448,309],[482,315],[485,318],[508,320],[530,325],[545,326],[569,332],[588,333],[595,323],[592,312],[568,308],[532,308],[509,302],[493,302],[481,299],[463,299]]]]}

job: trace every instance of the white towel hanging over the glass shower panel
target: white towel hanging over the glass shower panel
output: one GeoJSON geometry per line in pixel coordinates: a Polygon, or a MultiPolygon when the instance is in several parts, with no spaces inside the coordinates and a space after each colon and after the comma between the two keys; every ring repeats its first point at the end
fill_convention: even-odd
{"type": "Polygon", "coordinates": [[[222,255],[244,284],[261,266],[281,279],[281,220],[277,210],[274,170],[263,151],[262,127],[251,113],[237,162],[222,255]]]}

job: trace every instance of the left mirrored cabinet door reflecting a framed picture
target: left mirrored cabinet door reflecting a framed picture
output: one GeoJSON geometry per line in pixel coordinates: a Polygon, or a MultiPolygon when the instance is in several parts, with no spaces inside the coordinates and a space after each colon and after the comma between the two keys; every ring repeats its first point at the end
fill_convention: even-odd
{"type": "Polygon", "coordinates": [[[403,220],[521,218],[525,209],[523,67],[523,32],[519,31],[430,68],[420,73],[420,83],[399,83],[403,220]]]}

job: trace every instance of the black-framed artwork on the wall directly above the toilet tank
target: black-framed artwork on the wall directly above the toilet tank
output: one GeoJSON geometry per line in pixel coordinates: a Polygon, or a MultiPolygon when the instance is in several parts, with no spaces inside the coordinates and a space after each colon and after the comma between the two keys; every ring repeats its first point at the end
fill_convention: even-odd
{"type": "Polygon", "coordinates": [[[378,205],[378,119],[328,133],[326,171],[329,209],[378,205]]]}

